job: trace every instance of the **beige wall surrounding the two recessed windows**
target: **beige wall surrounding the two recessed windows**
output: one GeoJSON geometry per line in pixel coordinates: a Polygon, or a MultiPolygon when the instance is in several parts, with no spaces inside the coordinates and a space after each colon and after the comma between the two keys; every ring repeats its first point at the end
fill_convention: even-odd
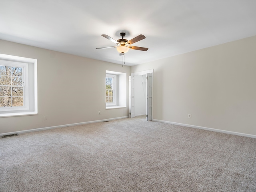
{"type": "Polygon", "coordinates": [[[128,116],[126,108],[105,109],[106,70],[130,67],[0,40],[0,53],[38,60],[38,115],[0,118],[0,134],[128,116]],[[101,115],[98,115],[101,111],[101,115]],[[48,116],[48,120],[43,117],[48,116]]]}

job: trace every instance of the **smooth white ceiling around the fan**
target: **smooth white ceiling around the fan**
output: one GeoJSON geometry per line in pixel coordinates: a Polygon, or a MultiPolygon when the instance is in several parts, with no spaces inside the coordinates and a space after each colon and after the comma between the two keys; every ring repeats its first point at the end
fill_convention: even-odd
{"type": "Polygon", "coordinates": [[[0,0],[0,39],[133,66],[256,35],[256,0],[0,0]]]}

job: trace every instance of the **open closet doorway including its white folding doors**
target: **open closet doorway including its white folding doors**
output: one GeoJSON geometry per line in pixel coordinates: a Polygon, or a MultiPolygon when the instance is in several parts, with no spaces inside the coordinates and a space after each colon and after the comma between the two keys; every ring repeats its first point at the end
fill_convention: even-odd
{"type": "Polygon", "coordinates": [[[153,70],[132,73],[130,76],[129,110],[130,118],[144,116],[152,120],[153,70]]]}

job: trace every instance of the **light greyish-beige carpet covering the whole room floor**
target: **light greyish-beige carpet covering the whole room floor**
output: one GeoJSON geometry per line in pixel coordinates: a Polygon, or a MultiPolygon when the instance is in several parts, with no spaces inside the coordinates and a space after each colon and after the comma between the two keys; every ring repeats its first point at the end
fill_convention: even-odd
{"type": "Polygon", "coordinates": [[[1,192],[256,191],[256,139],[125,118],[0,138],[1,192]]]}

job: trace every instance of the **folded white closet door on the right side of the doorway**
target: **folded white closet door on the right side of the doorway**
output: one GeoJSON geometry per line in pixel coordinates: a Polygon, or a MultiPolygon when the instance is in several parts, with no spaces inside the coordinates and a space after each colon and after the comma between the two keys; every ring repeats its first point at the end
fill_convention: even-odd
{"type": "Polygon", "coordinates": [[[147,73],[147,121],[152,121],[152,73],[147,73]]]}

